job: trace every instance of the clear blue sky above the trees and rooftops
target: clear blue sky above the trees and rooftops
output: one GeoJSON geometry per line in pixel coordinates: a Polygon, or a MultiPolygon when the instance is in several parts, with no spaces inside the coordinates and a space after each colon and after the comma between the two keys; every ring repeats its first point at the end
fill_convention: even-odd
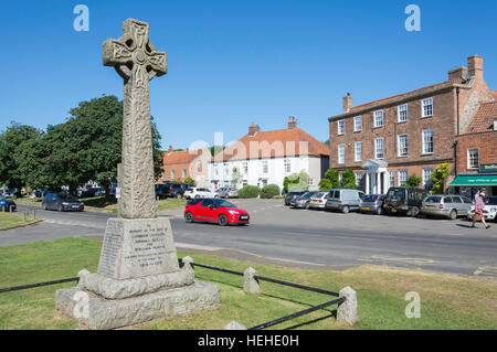
{"type": "Polygon", "coordinates": [[[121,78],[102,64],[102,43],[121,22],[149,22],[150,40],[168,53],[168,74],[150,83],[151,114],[162,148],[188,148],[262,130],[299,127],[328,139],[327,117],[353,104],[443,82],[484,56],[497,89],[497,1],[113,1],[3,2],[0,129],[11,120],[46,128],[82,100],[123,98],[121,78]],[[89,9],[77,32],[76,4],[89,9]],[[408,4],[421,9],[421,32],[408,32],[408,4]]]}

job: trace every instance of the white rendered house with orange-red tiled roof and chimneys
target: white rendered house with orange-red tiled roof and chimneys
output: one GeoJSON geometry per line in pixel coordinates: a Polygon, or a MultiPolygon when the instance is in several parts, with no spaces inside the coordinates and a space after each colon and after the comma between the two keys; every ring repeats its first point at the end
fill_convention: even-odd
{"type": "Polygon", "coordinates": [[[296,127],[295,117],[279,130],[261,131],[252,124],[248,134],[209,162],[209,188],[274,183],[283,189],[285,177],[304,170],[309,174],[309,190],[317,190],[328,164],[328,147],[296,127]]]}

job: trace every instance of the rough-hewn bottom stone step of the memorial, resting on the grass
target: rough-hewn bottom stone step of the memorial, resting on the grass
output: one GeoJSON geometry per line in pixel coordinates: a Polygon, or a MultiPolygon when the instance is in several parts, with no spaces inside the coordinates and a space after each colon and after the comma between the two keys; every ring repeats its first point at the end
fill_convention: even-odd
{"type": "Polygon", "coordinates": [[[190,286],[125,299],[105,299],[78,287],[55,291],[55,309],[82,328],[116,329],[221,306],[219,286],[195,280],[190,286]]]}

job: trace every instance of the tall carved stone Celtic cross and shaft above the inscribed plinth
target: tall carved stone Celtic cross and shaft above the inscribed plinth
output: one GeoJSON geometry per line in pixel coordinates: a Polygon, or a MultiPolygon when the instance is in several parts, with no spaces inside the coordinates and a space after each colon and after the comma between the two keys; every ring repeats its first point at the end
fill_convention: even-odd
{"type": "Polygon", "coordinates": [[[148,23],[123,22],[123,36],[104,42],[104,65],[124,79],[123,154],[118,171],[119,216],[157,217],[148,82],[167,73],[165,52],[148,40],[148,23]]]}

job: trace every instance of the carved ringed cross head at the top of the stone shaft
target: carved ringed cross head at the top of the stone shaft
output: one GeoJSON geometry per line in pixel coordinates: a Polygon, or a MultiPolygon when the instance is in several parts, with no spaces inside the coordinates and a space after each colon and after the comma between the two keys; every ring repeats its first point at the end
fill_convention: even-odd
{"type": "Polygon", "coordinates": [[[118,40],[104,42],[105,66],[114,66],[125,81],[135,77],[135,84],[167,73],[167,55],[149,41],[148,23],[128,19],[123,23],[123,33],[118,40]]]}

